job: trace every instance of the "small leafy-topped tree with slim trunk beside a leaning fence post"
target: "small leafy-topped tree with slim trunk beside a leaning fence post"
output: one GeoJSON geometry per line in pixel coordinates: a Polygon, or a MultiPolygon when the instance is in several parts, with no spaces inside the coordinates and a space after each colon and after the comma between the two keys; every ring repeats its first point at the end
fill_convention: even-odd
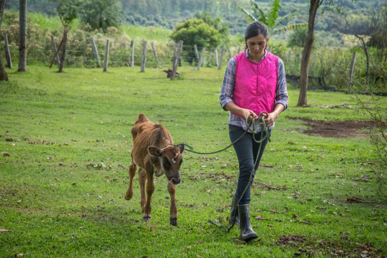
{"type": "Polygon", "coordinates": [[[71,22],[77,17],[77,10],[80,6],[80,2],[78,0],[53,0],[55,3],[58,3],[56,7],[56,11],[60,18],[60,21],[63,25],[63,38],[60,43],[61,55],[60,55],[60,64],[59,64],[59,72],[63,71],[63,64],[66,55],[66,41],[67,41],[67,30],[71,28],[71,22]]]}

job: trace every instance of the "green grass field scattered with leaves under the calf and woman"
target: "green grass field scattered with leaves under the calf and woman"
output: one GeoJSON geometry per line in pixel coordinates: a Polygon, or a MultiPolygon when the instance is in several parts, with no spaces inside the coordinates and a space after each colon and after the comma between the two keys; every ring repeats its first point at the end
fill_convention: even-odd
{"type": "MultiPolygon", "coordinates": [[[[383,198],[375,190],[368,138],[305,135],[306,125],[290,119],[364,117],[348,108],[297,108],[298,90],[289,90],[289,109],[277,120],[253,184],[258,240],[243,244],[237,227],[225,234],[208,223],[225,225],[228,218],[238,175],[232,149],[184,152],[178,226],[169,224],[164,176],[154,180],[152,218],[143,222],[137,180],[133,199],[124,199],[130,129],[139,113],[163,123],[175,143],[200,151],[220,149],[229,139],[228,115],[218,103],[223,71],[182,67],[184,79],[170,81],[161,70],[139,70],[8,70],[10,82],[0,84],[0,229],[10,231],[0,230],[0,257],[387,255],[386,203],[346,201],[383,198]]],[[[312,106],[354,102],[349,98],[308,93],[312,106]]]]}

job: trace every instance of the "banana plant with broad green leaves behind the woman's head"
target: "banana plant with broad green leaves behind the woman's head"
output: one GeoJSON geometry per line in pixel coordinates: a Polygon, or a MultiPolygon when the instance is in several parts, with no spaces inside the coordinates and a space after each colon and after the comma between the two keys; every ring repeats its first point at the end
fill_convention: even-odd
{"type": "Polygon", "coordinates": [[[290,25],[287,24],[289,20],[294,17],[294,13],[279,17],[278,14],[282,8],[280,0],[273,0],[273,2],[270,4],[270,9],[266,13],[253,0],[250,0],[250,6],[253,9],[253,13],[250,13],[246,9],[239,7],[239,9],[246,14],[246,21],[248,23],[253,21],[260,21],[266,24],[267,29],[272,34],[307,27],[307,23],[295,23],[290,25]]]}

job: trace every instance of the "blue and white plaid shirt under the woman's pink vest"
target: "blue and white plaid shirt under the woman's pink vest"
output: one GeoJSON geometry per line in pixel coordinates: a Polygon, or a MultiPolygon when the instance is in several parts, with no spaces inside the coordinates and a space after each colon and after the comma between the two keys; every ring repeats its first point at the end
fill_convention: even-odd
{"type": "MultiPolygon", "coordinates": [[[[246,56],[251,60],[249,57],[249,52],[246,50],[246,56]]],[[[263,57],[259,60],[262,61],[266,57],[266,50],[263,57]]],[[[222,89],[220,90],[220,96],[219,101],[220,105],[224,109],[224,107],[229,102],[233,101],[233,92],[234,92],[234,86],[235,86],[235,68],[236,68],[236,60],[235,58],[231,58],[226,67],[226,71],[224,73],[223,83],[222,83],[222,89]]],[[[285,67],[284,62],[280,58],[278,58],[278,77],[277,77],[277,90],[276,90],[276,102],[274,103],[274,106],[281,103],[285,106],[285,109],[288,108],[288,92],[286,89],[286,77],[285,77],[285,67]]],[[[226,110],[226,109],[224,109],[226,110]]],[[[228,124],[233,124],[239,127],[242,127],[244,130],[247,129],[246,120],[245,118],[238,117],[234,115],[233,113],[229,113],[228,118],[228,124]]],[[[257,124],[255,124],[255,128],[257,128],[257,124]]],[[[269,129],[272,129],[274,127],[274,123],[272,126],[269,127],[269,129]]],[[[262,130],[262,126],[259,126],[258,132],[262,130]]],[[[249,132],[251,132],[249,130],[249,132]]]]}

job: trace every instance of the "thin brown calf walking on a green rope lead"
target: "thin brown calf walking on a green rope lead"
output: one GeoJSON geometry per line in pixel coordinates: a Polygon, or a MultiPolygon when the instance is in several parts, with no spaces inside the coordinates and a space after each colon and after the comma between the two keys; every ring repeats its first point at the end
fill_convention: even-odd
{"type": "Polygon", "coordinates": [[[144,114],[138,115],[132,128],[132,136],[132,163],[129,166],[129,188],[126,191],[125,199],[130,200],[133,196],[133,178],[138,166],[142,218],[145,221],[150,221],[150,199],[154,192],[153,173],[157,177],[165,174],[168,179],[168,192],[171,196],[170,223],[177,226],[175,185],[180,183],[179,170],[183,161],[181,153],[184,150],[184,145],[178,147],[169,145],[173,144],[173,140],[168,130],[162,124],[150,121],[144,114]]]}

